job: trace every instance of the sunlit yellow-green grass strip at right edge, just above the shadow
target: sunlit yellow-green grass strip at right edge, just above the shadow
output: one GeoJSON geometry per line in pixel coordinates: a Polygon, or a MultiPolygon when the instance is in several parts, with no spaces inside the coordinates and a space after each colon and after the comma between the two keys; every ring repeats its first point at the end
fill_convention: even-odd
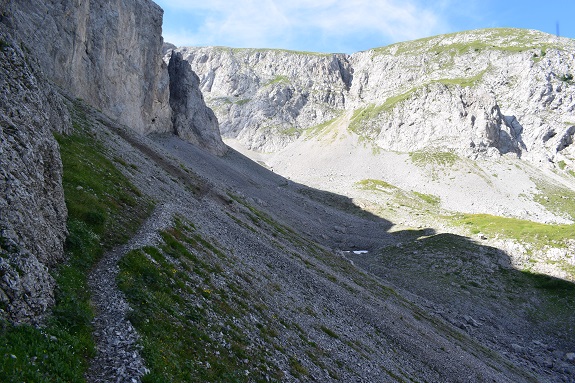
{"type": "Polygon", "coordinates": [[[548,225],[489,214],[462,214],[452,220],[466,227],[472,234],[499,235],[533,244],[537,248],[562,247],[567,240],[575,238],[575,225],[548,225]]]}

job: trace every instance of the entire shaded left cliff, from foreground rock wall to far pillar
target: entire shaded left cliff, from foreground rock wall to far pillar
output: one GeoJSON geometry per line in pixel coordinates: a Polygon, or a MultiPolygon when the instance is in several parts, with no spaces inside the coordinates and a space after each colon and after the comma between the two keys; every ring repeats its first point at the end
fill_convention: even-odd
{"type": "Polygon", "coordinates": [[[36,322],[53,302],[49,270],[65,258],[67,213],[53,137],[71,128],[65,97],[140,134],[172,132],[220,155],[226,146],[189,64],[168,70],[163,61],[163,11],[153,2],[0,6],[0,317],[36,322]]]}

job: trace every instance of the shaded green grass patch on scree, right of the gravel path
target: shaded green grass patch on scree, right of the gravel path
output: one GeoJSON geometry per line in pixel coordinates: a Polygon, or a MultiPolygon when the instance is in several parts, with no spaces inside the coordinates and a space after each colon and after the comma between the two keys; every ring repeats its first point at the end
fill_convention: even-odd
{"type": "MultiPolygon", "coordinates": [[[[231,280],[212,282],[223,272],[220,262],[229,262],[223,252],[181,220],[161,236],[160,246],[134,250],[119,264],[118,286],[133,308],[129,319],[150,369],[143,382],[281,378],[236,320],[248,315],[250,295],[231,280]]],[[[266,340],[278,335],[273,323],[258,324],[266,340]]]]}

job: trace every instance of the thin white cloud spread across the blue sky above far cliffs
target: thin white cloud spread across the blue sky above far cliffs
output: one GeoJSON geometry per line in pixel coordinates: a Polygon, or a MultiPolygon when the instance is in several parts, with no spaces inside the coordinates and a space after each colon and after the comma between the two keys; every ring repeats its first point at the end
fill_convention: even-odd
{"type": "MultiPolygon", "coordinates": [[[[164,37],[176,45],[317,47],[321,41],[370,38],[379,45],[442,33],[450,0],[158,0],[166,9],[164,37]],[[437,4],[440,4],[439,6],[437,4]],[[171,12],[189,24],[168,22],[171,12]]],[[[341,44],[340,44],[341,45],[341,44]]],[[[298,48],[299,49],[299,48],[298,48]]],[[[317,49],[317,48],[315,48],[317,49]]],[[[329,48],[328,48],[329,49],[329,48]]],[[[310,49],[312,50],[312,49],[310,49]]]]}

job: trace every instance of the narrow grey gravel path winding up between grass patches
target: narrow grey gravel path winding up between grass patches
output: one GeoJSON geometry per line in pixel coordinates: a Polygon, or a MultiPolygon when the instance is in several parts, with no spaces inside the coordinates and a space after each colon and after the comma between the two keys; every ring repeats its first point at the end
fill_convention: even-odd
{"type": "Polygon", "coordinates": [[[90,273],[97,351],[88,369],[88,382],[139,382],[147,372],[137,345],[138,334],[126,318],[129,306],[116,286],[118,261],[133,249],[159,241],[158,231],[171,224],[175,211],[172,204],[158,205],[138,233],[127,244],[104,254],[90,273]]]}

